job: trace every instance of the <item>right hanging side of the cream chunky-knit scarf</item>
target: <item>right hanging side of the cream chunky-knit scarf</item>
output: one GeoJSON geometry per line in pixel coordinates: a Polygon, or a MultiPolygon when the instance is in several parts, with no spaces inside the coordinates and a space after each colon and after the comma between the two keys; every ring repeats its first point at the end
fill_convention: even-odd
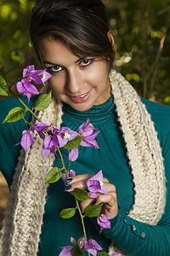
{"type": "MultiPolygon", "coordinates": [[[[115,70],[111,71],[110,80],[133,175],[134,204],[128,216],[156,225],[166,204],[166,179],[157,132],[145,105],[127,80],[115,70]]],[[[115,250],[112,243],[109,253],[115,252],[121,251],[115,250]]]]}

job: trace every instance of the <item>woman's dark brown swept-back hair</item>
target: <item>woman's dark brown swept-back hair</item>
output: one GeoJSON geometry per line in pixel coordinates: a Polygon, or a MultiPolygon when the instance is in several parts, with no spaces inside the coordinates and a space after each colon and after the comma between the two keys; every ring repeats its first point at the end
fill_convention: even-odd
{"type": "Polygon", "coordinates": [[[107,36],[110,27],[100,0],[37,0],[31,15],[31,44],[46,37],[61,40],[74,55],[102,57],[109,62],[115,50],[107,36]]]}

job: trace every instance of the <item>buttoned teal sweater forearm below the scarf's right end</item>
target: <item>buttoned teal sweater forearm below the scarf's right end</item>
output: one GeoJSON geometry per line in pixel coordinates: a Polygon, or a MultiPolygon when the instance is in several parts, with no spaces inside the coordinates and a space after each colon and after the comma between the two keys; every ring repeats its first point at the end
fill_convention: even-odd
{"type": "Polygon", "coordinates": [[[103,230],[103,235],[129,255],[160,256],[168,255],[170,251],[169,223],[156,226],[144,224],[121,211],[111,219],[111,230],[103,230]]]}

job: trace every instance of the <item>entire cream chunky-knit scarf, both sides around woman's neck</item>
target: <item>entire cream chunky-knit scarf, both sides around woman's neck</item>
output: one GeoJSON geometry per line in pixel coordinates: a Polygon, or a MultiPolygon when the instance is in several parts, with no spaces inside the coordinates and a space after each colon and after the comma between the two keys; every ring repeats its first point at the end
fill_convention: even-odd
{"type": "MultiPolygon", "coordinates": [[[[112,70],[110,80],[134,183],[134,204],[128,216],[156,225],[164,212],[166,186],[154,124],[136,91],[122,75],[112,70]]],[[[59,128],[62,114],[61,102],[53,100],[45,111],[38,113],[38,118],[59,128]]],[[[54,163],[54,154],[42,159],[42,143],[35,132],[31,149],[26,154],[21,150],[3,220],[1,256],[37,255],[48,189],[44,182],[54,163]]],[[[117,249],[112,244],[110,253],[114,252],[117,249]]]]}

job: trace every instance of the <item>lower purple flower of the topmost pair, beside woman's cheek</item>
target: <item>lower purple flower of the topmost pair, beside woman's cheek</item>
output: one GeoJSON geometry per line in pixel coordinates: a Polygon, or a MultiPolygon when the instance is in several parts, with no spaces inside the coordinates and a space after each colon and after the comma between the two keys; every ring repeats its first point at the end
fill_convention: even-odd
{"type": "Polygon", "coordinates": [[[32,95],[39,94],[36,86],[30,84],[27,79],[21,79],[21,81],[16,84],[16,88],[20,93],[27,96],[28,102],[30,102],[30,98],[32,95]]]}

